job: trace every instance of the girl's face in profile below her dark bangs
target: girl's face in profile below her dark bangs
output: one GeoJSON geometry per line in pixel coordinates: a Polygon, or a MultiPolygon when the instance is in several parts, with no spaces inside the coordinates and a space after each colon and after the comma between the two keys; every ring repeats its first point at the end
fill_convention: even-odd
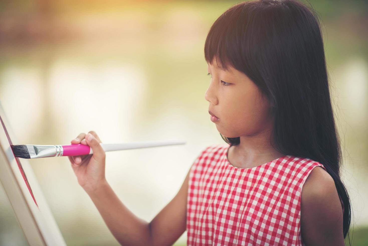
{"type": "Polygon", "coordinates": [[[217,130],[227,138],[236,138],[272,129],[269,101],[255,83],[234,67],[225,71],[217,64],[208,64],[212,77],[205,93],[208,110],[219,118],[214,122],[217,130]]]}

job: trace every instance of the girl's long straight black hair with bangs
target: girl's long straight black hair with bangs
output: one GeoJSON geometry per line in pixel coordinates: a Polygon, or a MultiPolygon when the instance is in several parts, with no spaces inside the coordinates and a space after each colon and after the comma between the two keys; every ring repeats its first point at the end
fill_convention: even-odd
{"type": "MultiPolygon", "coordinates": [[[[335,125],[319,17],[297,0],[238,3],[212,24],[205,59],[247,75],[270,101],[272,145],[284,155],[306,157],[326,167],[343,201],[343,232],[351,220],[340,179],[341,147],[335,125]]],[[[238,145],[240,138],[227,138],[238,145]]],[[[350,236],[349,242],[350,242],[350,236]]],[[[350,242],[351,244],[351,242],[350,242]]]]}

